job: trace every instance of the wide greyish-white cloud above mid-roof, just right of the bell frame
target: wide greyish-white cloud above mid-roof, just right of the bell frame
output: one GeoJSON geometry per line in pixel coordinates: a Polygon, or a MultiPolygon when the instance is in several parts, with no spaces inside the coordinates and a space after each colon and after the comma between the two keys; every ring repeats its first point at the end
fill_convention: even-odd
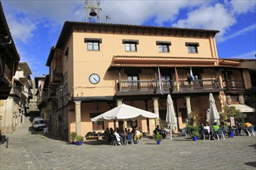
{"type": "Polygon", "coordinates": [[[173,22],[182,8],[193,8],[209,1],[102,1],[102,22],[109,15],[113,23],[141,25],[149,19],[162,26],[173,22]]]}

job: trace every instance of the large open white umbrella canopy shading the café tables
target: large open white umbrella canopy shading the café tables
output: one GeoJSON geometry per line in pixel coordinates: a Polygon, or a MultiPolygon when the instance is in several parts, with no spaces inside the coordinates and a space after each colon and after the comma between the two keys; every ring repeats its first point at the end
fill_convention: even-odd
{"type": "Polygon", "coordinates": [[[91,121],[104,121],[104,120],[126,120],[136,117],[157,118],[158,115],[152,112],[122,104],[112,110],[106,111],[97,117],[93,117],[91,121]]]}

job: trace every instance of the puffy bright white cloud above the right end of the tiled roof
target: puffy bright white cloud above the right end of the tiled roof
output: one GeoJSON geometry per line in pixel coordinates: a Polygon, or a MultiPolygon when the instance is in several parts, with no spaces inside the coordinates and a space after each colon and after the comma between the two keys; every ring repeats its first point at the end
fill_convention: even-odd
{"type": "Polygon", "coordinates": [[[188,13],[187,19],[181,19],[173,26],[182,28],[217,29],[216,40],[221,41],[223,35],[236,23],[236,19],[222,4],[213,6],[202,6],[195,11],[188,13]]]}

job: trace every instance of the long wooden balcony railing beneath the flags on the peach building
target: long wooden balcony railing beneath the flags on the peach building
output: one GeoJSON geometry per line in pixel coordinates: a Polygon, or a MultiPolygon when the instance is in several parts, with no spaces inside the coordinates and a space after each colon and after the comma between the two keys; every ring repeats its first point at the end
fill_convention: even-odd
{"type": "MultiPolygon", "coordinates": [[[[220,91],[220,81],[194,80],[189,84],[187,80],[179,80],[178,87],[175,80],[162,80],[162,89],[164,93],[205,93],[220,91]]],[[[116,92],[116,95],[153,93],[161,93],[158,80],[121,80],[118,83],[118,91],[116,92]]]]}

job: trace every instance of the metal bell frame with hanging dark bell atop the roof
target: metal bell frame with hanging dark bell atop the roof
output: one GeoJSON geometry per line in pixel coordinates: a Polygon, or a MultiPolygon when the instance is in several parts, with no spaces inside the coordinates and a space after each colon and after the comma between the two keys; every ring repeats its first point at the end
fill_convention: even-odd
{"type": "Polygon", "coordinates": [[[98,22],[100,22],[100,12],[102,8],[99,7],[99,0],[85,0],[85,17],[86,22],[89,22],[89,19],[97,16],[98,22]]]}

